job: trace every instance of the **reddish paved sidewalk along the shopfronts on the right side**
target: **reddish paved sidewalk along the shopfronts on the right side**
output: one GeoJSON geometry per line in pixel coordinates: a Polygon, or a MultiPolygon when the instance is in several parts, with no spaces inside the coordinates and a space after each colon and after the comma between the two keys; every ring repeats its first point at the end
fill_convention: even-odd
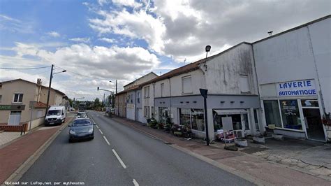
{"type": "MultiPolygon", "coordinates": [[[[151,129],[145,124],[127,120],[122,117],[113,117],[112,120],[126,124],[138,129],[144,133],[160,138],[166,144],[174,144],[185,151],[193,152],[198,156],[207,158],[207,162],[220,167],[226,167],[231,173],[239,173],[249,180],[257,180],[256,183],[262,185],[330,185],[330,180],[320,178],[301,171],[288,169],[287,166],[268,162],[255,155],[249,155],[244,152],[233,152],[223,149],[220,143],[206,146],[203,141],[191,140],[186,141],[184,138],[172,136],[162,130],[151,129]],[[217,163],[216,163],[217,162],[217,163]]],[[[331,178],[331,177],[330,177],[331,178]]]]}

